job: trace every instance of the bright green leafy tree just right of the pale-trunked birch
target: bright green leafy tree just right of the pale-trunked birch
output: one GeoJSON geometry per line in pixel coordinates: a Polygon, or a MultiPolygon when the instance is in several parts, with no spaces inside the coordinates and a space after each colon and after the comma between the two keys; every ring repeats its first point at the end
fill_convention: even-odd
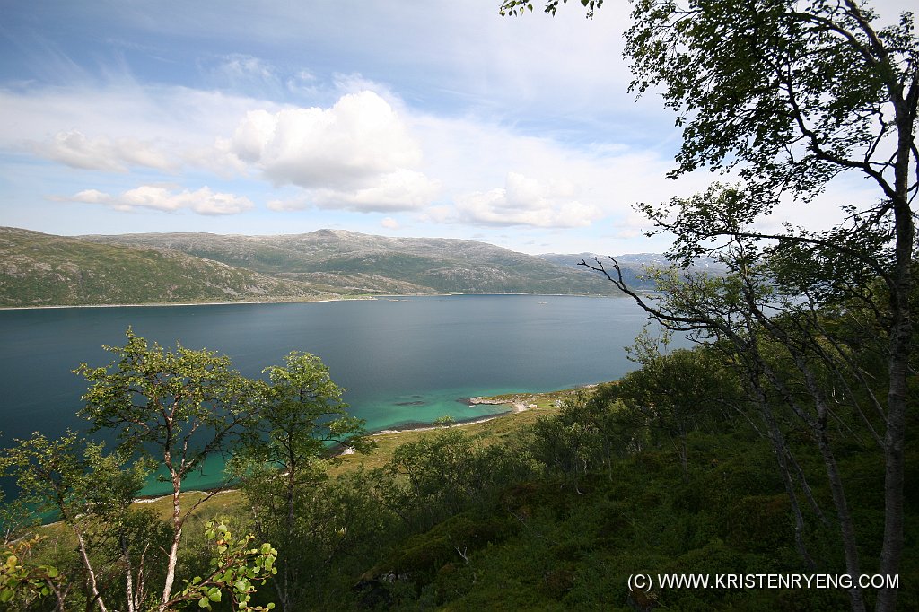
{"type": "Polygon", "coordinates": [[[327,445],[367,452],[363,421],[346,413],[344,389],[329,376],[319,357],[293,352],[284,367],[266,368],[268,383],[256,386],[257,418],[244,448],[233,459],[255,514],[260,537],[278,542],[281,558],[276,582],[284,609],[292,609],[307,590],[307,576],[347,550],[360,533],[339,495],[358,504],[339,487],[323,486],[327,445]]]}

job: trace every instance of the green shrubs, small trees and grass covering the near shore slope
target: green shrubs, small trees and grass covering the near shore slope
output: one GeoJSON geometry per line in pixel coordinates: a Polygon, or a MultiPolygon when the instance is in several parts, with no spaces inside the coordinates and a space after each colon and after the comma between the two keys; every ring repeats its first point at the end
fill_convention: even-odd
{"type": "MultiPolygon", "coordinates": [[[[655,584],[630,591],[637,572],[710,580],[845,572],[821,453],[795,428],[793,414],[783,414],[799,470],[794,490],[800,497],[801,483],[809,485],[799,531],[772,444],[740,392],[742,380],[719,367],[718,348],[668,352],[645,335],[632,349],[642,368],[618,382],[492,398],[536,407],[485,423],[445,420],[435,430],[372,437],[346,416],[341,390],[315,357],[292,354],[267,369],[268,380],[246,381],[204,351],[165,352],[132,335],[114,350],[121,358],[109,368],[81,368],[96,379],[89,405],[104,403],[106,414],[119,404],[141,424],[141,414],[178,416],[182,402],[245,407],[187,410],[174,421],[186,424],[177,427],[180,435],[204,436],[187,448],[218,448],[228,430],[211,424],[206,433],[194,419],[239,414],[224,422],[244,425],[228,447],[242,489],[130,504],[151,466],[130,461],[127,446],[106,454],[75,435],[22,441],[4,451],[0,465],[17,476],[20,501],[57,510],[61,522],[29,527],[16,515],[24,508],[7,504],[0,610],[47,609],[56,598],[61,609],[134,610],[244,609],[243,602],[285,610],[846,606],[843,589],[655,584]],[[207,375],[195,375],[203,364],[207,375]],[[140,366],[145,374],[130,374],[140,366]],[[190,369],[179,375],[181,368],[190,369]],[[164,375],[165,387],[118,391],[126,380],[156,379],[154,372],[164,375]],[[323,440],[368,454],[330,455],[323,440]],[[183,521],[176,576],[199,579],[179,581],[164,597],[176,507],[183,521]],[[271,544],[253,548],[253,538],[271,544]]],[[[141,429],[165,432],[168,425],[141,429]]],[[[130,443],[138,431],[123,439],[130,443]]],[[[871,550],[882,534],[883,457],[850,429],[834,427],[832,436],[842,478],[853,485],[857,537],[871,550]]],[[[173,441],[175,457],[159,463],[181,456],[186,445],[173,441]]],[[[179,462],[193,465],[195,457],[179,462]]],[[[914,449],[907,472],[919,476],[914,449]]],[[[919,498],[906,501],[899,595],[909,609],[919,605],[919,498]]],[[[865,572],[879,571],[876,558],[864,562],[865,572]]]]}

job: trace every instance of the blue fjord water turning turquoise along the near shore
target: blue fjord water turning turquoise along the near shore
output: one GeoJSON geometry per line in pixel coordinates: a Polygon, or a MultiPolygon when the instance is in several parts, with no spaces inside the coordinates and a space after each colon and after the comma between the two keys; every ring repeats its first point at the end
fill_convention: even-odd
{"type": "MultiPolygon", "coordinates": [[[[462,402],[476,395],[615,380],[634,368],[622,348],[644,320],[631,300],[572,296],[0,311],[0,444],[85,429],[75,413],[86,383],[72,370],[108,364],[101,345],[123,346],[129,325],[166,347],[219,351],[250,377],[292,350],[318,355],[347,388],[349,412],[380,430],[497,410],[462,402]]],[[[220,470],[218,459],[189,484],[220,470]]]]}

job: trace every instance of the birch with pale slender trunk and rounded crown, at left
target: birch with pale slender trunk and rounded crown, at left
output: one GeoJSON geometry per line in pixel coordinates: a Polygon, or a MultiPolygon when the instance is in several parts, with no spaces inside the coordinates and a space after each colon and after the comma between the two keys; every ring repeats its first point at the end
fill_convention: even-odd
{"type": "Polygon", "coordinates": [[[204,460],[228,452],[253,422],[252,384],[231,368],[230,359],[208,350],[176,345],[165,350],[127,332],[125,346],[105,346],[116,357],[107,367],[81,364],[76,372],[91,383],[81,414],[92,431],[108,429],[120,448],[154,459],[172,494],[172,538],[165,555],[160,609],[173,598],[176,562],[188,516],[221,488],[183,509],[187,476],[204,460]]]}

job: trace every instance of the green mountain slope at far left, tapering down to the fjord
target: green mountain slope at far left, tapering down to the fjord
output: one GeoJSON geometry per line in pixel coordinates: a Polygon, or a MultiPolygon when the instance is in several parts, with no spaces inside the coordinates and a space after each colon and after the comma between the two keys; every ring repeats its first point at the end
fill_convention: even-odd
{"type": "Polygon", "coordinates": [[[333,290],[176,251],[0,227],[0,306],[309,300],[333,290]]]}

